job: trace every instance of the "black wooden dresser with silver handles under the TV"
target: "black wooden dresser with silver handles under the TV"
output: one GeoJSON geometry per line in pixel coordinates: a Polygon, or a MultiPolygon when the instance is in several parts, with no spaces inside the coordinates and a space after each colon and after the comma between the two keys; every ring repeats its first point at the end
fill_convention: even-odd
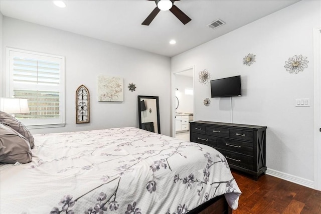
{"type": "Polygon", "coordinates": [[[216,148],[232,169],[253,175],[265,173],[266,126],[190,121],[190,140],[216,148]]]}

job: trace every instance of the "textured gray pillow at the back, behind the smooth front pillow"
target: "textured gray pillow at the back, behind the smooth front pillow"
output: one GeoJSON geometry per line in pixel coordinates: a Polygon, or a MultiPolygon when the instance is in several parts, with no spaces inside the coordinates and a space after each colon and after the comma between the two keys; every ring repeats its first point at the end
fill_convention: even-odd
{"type": "Polygon", "coordinates": [[[35,140],[28,128],[19,120],[17,120],[12,115],[0,111],[0,123],[5,124],[14,130],[16,130],[18,133],[20,133],[22,136],[26,137],[27,140],[30,143],[30,148],[34,148],[35,146],[35,140]]]}

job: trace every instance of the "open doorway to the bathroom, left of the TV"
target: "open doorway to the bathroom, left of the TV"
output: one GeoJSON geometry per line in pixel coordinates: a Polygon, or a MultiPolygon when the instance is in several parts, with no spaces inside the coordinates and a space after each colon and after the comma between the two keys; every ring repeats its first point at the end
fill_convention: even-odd
{"type": "Polygon", "coordinates": [[[174,90],[172,135],[173,137],[190,141],[189,121],[195,118],[195,69],[194,66],[174,73],[172,88],[174,90]]]}

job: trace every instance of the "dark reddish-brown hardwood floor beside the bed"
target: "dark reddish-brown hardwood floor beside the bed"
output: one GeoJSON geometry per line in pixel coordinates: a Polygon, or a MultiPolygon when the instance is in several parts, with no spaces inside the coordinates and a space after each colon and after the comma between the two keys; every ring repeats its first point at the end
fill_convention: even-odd
{"type": "Polygon", "coordinates": [[[255,181],[238,171],[232,174],[242,191],[233,214],[321,214],[321,191],[270,175],[255,181]]]}

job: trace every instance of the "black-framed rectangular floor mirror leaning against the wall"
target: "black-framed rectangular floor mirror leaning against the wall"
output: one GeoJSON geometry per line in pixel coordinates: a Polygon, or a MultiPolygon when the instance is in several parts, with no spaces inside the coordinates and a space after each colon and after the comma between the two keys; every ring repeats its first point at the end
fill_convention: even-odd
{"type": "Polygon", "coordinates": [[[158,97],[138,96],[139,128],[161,134],[158,97]]]}

